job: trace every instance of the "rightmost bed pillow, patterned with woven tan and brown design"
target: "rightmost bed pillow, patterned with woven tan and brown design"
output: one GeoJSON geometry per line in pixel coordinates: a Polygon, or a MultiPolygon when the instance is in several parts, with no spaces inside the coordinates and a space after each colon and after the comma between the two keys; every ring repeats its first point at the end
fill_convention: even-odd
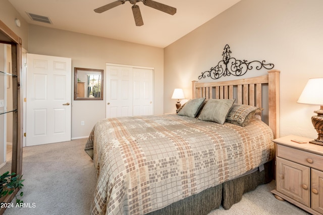
{"type": "Polygon", "coordinates": [[[235,125],[245,127],[250,119],[254,117],[257,112],[263,109],[246,104],[233,104],[228,116],[227,122],[235,125]]]}

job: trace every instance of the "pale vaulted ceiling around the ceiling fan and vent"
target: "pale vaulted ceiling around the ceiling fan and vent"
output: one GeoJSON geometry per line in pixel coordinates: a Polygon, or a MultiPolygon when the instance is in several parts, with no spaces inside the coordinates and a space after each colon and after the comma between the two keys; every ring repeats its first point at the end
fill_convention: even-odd
{"type": "Polygon", "coordinates": [[[30,24],[166,47],[241,0],[154,0],[177,8],[172,16],[138,2],[144,25],[135,25],[129,2],[101,14],[93,10],[116,0],[9,0],[30,24]],[[27,13],[49,17],[33,21],[27,13]]]}

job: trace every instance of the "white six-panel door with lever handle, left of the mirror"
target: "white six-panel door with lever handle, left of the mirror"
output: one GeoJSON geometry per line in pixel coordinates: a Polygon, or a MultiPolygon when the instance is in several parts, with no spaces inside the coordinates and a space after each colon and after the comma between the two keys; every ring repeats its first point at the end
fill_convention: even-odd
{"type": "Polygon", "coordinates": [[[26,146],[71,140],[71,59],[27,53],[26,146]]]}

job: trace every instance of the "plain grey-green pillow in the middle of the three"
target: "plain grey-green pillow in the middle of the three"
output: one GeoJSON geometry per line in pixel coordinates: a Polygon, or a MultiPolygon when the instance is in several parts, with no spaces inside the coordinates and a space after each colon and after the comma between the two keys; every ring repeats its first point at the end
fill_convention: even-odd
{"type": "Polygon", "coordinates": [[[208,99],[198,119],[224,124],[235,100],[236,99],[208,99]]]}

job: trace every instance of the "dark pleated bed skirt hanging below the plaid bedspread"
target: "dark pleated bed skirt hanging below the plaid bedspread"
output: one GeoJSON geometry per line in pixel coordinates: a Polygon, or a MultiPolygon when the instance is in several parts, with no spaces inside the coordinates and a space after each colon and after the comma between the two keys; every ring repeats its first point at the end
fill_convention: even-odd
{"type": "Polygon", "coordinates": [[[274,165],[272,160],[264,164],[264,170],[262,171],[257,170],[216,187],[208,188],[148,214],[207,214],[221,204],[227,210],[233,204],[239,202],[244,193],[256,189],[258,185],[271,182],[273,178],[274,165]]]}

